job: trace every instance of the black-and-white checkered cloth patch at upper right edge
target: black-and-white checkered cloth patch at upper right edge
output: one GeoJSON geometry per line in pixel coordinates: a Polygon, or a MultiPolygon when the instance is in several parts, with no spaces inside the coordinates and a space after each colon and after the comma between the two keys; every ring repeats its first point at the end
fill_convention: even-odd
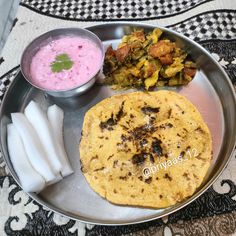
{"type": "Polygon", "coordinates": [[[205,12],[169,26],[195,41],[236,38],[236,11],[205,12]]]}

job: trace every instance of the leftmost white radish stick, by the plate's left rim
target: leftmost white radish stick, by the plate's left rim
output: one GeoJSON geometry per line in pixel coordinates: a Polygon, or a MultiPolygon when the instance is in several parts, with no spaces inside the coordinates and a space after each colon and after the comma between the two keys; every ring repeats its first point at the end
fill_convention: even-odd
{"type": "Polygon", "coordinates": [[[21,137],[13,124],[7,125],[7,145],[13,168],[25,192],[40,192],[45,179],[32,167],[21,137]]]}

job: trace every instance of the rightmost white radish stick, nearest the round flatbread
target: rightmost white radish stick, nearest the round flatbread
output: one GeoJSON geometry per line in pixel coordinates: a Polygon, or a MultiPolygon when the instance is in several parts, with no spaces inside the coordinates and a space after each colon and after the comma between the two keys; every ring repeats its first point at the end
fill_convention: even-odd
{"type": "Polygon", "coordinates": [[[57,144],[57,150],[59,153],[59,157],[62,163],[61,174],[63,177],[70,175],[73,173],[71,168],[68,156],[65,151],[65,145],[63,141],[63,120],[64,120],[64,112],[57,105],[52,105],[48,108],[48,120],[51,124],[54,140],[57,144]]]}

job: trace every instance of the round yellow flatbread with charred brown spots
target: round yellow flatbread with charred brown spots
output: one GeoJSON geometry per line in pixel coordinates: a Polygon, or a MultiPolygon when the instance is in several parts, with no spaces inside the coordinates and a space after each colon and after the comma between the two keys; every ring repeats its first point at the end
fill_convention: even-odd
{"type": "Polygon", "coordinates": [[[85,115],[82,171],[108,201],[163,208],[193,195],[212,159],[198,110],[171,91],[115,95],[85,115]]]}

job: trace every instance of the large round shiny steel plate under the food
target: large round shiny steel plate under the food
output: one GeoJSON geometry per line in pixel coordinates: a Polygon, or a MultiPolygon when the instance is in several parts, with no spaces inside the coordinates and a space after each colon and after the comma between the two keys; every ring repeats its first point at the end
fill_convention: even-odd
{"type": "MultiPolygon", "coordinates": [[[[87,28],[96,34],[104,46],[117,46],[123,35],[136,28],[146,32],[158,26],[141,23],[106,23],[87,28]]],[[[11,112],[22,112],[30,100],[38,102],[45,110],[56,103],[65,112],[64,141],[74,174],[59,183],[48,186],[39,194],[29,193],[45,207],[71,219],[101,225],[127,225],[157,219],[188,205],[204,193],[227,165],[236,139],[236,100],[233,86],[218,62],[196,42],[170,29],[159,27],[164,35],[185,48],[196,61],[198,71],[187,86],[164,87],[187,97],[200,111],[213,139],[213,159],[202,185],[193,196],[174,206],[163,209],[145,209],[112,204],[96,194],[80,170],[79,142],[86,111],[102,99],[126,91],[114,91],[109,86],[95,84],[79,97],[53,98],[27,83],[18,73],[5,94],[0,112],[1,149],[7,166],[16,182],[19,179],[8,156],[6,126],[11,112]]],[[[65,29],[66,30],[66,29],[65,29]]],[[[135,91],[135,90],[132,90],[135,91]]],[[[171,167],[170,167],[171,168],[171,167]]]]}

